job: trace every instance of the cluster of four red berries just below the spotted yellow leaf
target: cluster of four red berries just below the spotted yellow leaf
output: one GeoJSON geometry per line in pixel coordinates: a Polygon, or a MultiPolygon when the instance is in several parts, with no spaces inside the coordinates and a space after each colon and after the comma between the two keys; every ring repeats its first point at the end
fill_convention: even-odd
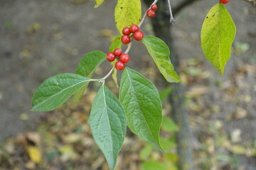
{"type": "Polygon", "coordinates": [[[142,40],[144,38],[144,33],[142,33],[142,31],[139,30],[139,26],[135,24],[130,27],[124,27],[122,33],[124,35],[122,35],[121,41],[124,44],[129,44],[129,42],[131,42],[131,37],[129,36],[131,33],[133,33],[135,40],[142,40]]]}

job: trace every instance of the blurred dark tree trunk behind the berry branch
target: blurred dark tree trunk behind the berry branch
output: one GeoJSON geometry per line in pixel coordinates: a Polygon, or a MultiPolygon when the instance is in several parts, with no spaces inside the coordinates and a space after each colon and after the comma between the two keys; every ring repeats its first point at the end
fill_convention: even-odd
{"type": "MultiPolygon", "coordinates": [[[[177,13],[181,8],[191,4],[191,1],[195,0],[184,0],[176,6],[175,13],[177,13]]],[[[149,6],[152,1],[144,0],[144,2],[149,6]]],[[[154,33],[156,37],[164,40],[171,50],[171,62],[174,64],[174,68],[178,72],[179,59],[174,48],[173,37],[171,36],[171,29],[175,28],[169,23],[170,15],[167,6],[167,0],[161,0],[157,3],[158,9],[156,11],[156,16],[152,18],[152,24],[154,28],[154,33]]],[[[192,170],[192,145],[191,145],[191,133],[189,129],[188,112],[186,111],[184,104],[184,90],[181,83],[174,83],[172,93],[169,96],[169,101],[171,103],[172,112],[171,115],[178,125],[180,130],[176,133],[177,142],[177,152],[178,152],[178,169],[179,170],[192,170]]]]}

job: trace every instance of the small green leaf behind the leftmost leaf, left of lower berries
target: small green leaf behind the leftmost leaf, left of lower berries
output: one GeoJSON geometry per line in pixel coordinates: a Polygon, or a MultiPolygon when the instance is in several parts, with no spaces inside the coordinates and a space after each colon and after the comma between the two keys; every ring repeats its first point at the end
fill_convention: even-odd
{"type": "Polygon", "coordinates": [[[100,51],[88,52],[78,64],[75,74],[92,77],[95,69],[106,60],[106,54],[100,51]]]}

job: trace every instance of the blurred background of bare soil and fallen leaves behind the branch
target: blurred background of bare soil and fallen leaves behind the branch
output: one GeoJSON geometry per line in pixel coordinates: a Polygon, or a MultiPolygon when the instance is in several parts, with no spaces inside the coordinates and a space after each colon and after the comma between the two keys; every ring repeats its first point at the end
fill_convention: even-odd
{"type": "MultiPolygon", "coordinates": [[[[43,80],[74,73],[87,52],[108,52],[119,34],[114,23],[116,3],[105,0],[93,8],[92,0],[0,0],[0,169],[108,169],[87,121],[99,84],[90,84],[78,106],[68,101],[48,113],[28,110],[43,80]]],[[[200,46],[203,20],[216,3],[202,0],[183,8],[172,28],[181,57],[179,75],[186,90],[193,164],[195,169],[255,170],[256,8],[242,0],[225,5],[237,35],[220,77],[200,46]]],[[[144,4],[142,11],[146,11],[144,4]]],[[[148,18],[142,30],[154,35],[148,18]]],[[[178,127],[164,95],[171,86],[156,72],[141,42],[134,42],[129,54],[128,66],[142,72],[160,91],[161,143],[169,154],[158,152],[128,130],[116,169],[177,169],[174,133],[178,127]]],[[[110,68],[103,63],[95,77],[104,77],[110,68]]],[[[111,77],[106,84],[118,94],[111,77]]]]}

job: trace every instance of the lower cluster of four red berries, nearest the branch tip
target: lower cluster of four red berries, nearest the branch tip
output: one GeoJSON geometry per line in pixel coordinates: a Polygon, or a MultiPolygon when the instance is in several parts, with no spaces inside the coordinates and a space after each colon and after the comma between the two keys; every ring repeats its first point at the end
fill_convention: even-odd
{"type": "Polygon", "coordinates": [[[114,61],[115,59],[119,60],[114,64],[114,67],[118,70],[122,70],[125,67],[125,63],[129,62],[129,55],[123,54],[122,49],[115,49],[114,52],[107,53],[107,60],[109,62],[114,61]]]}

